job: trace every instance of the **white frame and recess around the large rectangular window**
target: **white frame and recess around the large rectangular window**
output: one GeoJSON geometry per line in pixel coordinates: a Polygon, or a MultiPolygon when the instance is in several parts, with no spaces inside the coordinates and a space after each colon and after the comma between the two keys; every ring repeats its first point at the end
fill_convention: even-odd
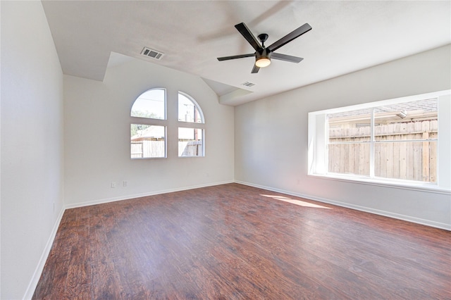
{"type": "Polygon", "coordinates": [[[397,99],[376,101],[355,106],[331,108],[323,111],[309,113],[308,119],[308,175],[328,178],[331,180],[343,180],[350,182],[362,182],[370,185],[389,187],[401,187],[405,189],[427,190],[432,192],[451,194],[451,90],[406,96],[397,99]],[[417,101],[422,99],[438,99],[438,147],[437,147],[437,182],[416,182],[412,180],[397,180],[392,178],[368,177],[359,175],[345,175],[328,173],[328,125],[327,114],[340,113],[362,108],[372,108],[394,103],[417,101]]]}

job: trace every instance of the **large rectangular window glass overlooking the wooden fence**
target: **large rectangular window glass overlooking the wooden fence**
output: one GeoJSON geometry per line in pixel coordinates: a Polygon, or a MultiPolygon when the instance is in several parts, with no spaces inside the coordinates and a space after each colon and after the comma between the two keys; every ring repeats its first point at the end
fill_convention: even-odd
{"type": "Polygon", "coordinates": [[[435,182],[438,99],[327,115],[328,172],[435,182]]]}

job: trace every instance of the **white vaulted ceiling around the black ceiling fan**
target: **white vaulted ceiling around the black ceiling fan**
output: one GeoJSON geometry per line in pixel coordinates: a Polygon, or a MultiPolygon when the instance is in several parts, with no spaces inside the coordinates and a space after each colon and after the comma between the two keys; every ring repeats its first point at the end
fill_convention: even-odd
{"type": "MultiPolygon", "coordinates": [[[[451,1],[42,1],[63,73],[103,80],[123,54],[202,77],[222,104],[238,105],[451,43],[451,1]],[[244,22],[276,42],[313,29],[251,74],[253,53],[235,29],[244,22]],[[161,61],[140,53],[163,52],[161,61]],[[252,82],[253,87],[242,86],[252,82]]],[[[126,60],[126,59],[125,59],[126,60]]]]}

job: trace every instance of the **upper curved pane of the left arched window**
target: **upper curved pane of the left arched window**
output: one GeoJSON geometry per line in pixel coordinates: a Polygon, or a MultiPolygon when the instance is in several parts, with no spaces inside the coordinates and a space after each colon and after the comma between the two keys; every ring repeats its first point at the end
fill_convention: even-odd
{"type": "Polygon", "coordinates": [[[166,90],[149,89],[132,106],[132,117],[166,120],[166,90]]]}

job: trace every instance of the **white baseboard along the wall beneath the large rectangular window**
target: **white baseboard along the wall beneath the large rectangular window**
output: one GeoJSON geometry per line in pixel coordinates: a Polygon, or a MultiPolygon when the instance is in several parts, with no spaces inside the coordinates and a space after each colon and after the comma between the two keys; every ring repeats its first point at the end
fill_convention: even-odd
{"type": "Polygon", "coordinates": [[[408,221],[408,222],[412,222],[412,223],[417,223],[417,224],[421,224],[421,225],[426,225],[426,226],[431,226],[431,227],[436,227],[436,228],[451,231],[451,225],[446,224],[446,223],[440,223],[440,222],[435,222],[435,221],[431,221],[431,220],[415,218],[410,215],[401,215],[399,213],[391,213],[390,211],[381,211],[378,209],[369,208],[369,207],[365,207],[365,206],[347,204],[345,202],[335,201],[335,200],[331,200],[331,199],[324,199],[324,198],[311,196],[311,195],[307,195],[307,194],[299,194],[296,192],[286,191],[284,189],[276,189],[274,187],[266,187],[264,185],[255,185],[253,183],[242,182],[239,180],[235,180],[235,182],[239,183],[240,185],[248,185],[249,187],[258,187],[259,189],[267,189],[268,191],[272,191],[272,192],[288,194],[291,196],[297,196],[297,197],[301,197],[304,199],[310,199],[310,200],[319,201],[319,202],[323,202],[323,203],[327,203],[327,204],[333,204],[333,205],[342,206],[345,208],[352,208],[352,209],[355,209],[356,211],[364,211],[366,213],[374,213],[376,215],[383,215],[383,216],[389,217],[389,218],[395,218],[398,220],[404,220],[404,221],[408,221]]]}

